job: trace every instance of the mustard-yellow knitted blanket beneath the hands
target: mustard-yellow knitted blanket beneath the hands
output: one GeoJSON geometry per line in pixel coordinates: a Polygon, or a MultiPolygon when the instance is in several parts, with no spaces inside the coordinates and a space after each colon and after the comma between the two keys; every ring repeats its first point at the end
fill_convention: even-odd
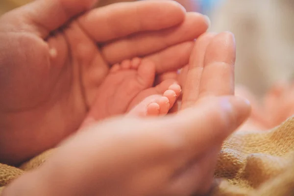
{"type": "MultiPolygon", "coordinates": [[[[50,153],[20,168],[0,164],[0,192],[50,153]]],[[[215,177],[220,180],[212,196],[294,196],[294,117],[270,131],[233,134],[222,147],[215,177]]]]}

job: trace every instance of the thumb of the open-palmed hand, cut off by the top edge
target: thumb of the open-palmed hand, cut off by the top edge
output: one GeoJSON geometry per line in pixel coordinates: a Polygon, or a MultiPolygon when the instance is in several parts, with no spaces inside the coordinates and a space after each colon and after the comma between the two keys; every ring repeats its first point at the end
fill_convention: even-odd
{"type": "Polygon", "coordinates": [[[90,9],[98,0],[35,0],[20,8],[23,17],[42,38],[90,9]]]}

